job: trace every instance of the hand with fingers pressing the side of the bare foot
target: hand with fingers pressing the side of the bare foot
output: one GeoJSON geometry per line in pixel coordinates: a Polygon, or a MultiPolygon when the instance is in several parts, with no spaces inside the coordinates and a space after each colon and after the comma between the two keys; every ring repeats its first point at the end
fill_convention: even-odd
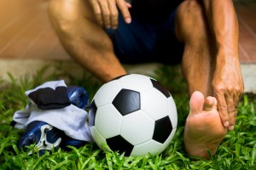
{"type": "Polygon", "coordinates": [[[217,63],[212,86],[213,94],[218,101],[221,121],[224,127],[233,130],[237,116],[237,105],[244,89],[238,57],[228,56],[217,63]]]}

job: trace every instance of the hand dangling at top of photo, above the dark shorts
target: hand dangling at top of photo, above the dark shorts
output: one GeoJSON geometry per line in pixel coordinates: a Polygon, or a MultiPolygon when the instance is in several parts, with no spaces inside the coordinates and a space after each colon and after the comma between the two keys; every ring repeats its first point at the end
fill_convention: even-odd
{"type": "Polygon", "coordinates": [[[131,23],[131,14],[128,10],[131,8],[131,4],[125,0],[89,0],[89,2],[100,26],[116,29],[118,27],[118,8],[125,22],[131,23]]]}

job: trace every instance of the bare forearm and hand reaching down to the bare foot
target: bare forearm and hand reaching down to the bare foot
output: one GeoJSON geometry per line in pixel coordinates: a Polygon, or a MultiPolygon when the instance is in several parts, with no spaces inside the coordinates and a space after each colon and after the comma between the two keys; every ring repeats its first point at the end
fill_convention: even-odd
{"type": "Polygon", "coordinates": [[[203,3],[217,47],[213,94],[218,100],[224,127],[232,130],[236,122],[236,108],[243,94],[236,11],[231,0],[203,0],[203,3]]]}

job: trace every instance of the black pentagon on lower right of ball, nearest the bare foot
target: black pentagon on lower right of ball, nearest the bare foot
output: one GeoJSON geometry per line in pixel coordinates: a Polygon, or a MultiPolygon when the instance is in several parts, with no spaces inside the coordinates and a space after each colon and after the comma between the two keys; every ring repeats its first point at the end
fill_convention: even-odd
{"type": "Polygon", "coordinates": [[[166,142],[169,135],[172,133],[172,122],[169,116],[165,116],[154,122],[153,139],[161,144],[166,142]]]}

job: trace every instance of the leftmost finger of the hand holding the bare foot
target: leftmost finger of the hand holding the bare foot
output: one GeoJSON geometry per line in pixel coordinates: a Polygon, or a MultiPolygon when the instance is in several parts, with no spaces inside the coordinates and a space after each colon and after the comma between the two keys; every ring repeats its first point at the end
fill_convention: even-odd
{"type": "Polygon", "coordinates": [[[215,94],[216,99],[217,99],[217,108],[218,108],[218,113],[220,115],[221,121],[224,125],[224,127],[229,127],[230,124],[230,116],[228,114],[228,108],[226,104],[226,99],[224,97],[224,94],[215,94]]]}

